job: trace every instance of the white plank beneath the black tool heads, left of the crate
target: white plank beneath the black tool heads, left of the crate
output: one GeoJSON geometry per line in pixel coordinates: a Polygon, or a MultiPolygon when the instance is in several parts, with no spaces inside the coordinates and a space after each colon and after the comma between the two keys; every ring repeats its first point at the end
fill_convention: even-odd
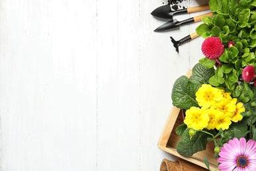
{"type": "MultiPolygon", "coordinates": [[[[171,89],[176,78],[189,70],[189,55],[183,48],[175,51],[170,36],[181,39],[188,27],[169,32],[153,32],[167,22],[150,15],[161,2],[140,3],[140,70],[141,70],[141,170],[159,170],[161,160],[175,158],[157,149],[157,141],[171,110],[171,89]]],[[[186,18],[179,16],[179,20],[186,18]]]]}

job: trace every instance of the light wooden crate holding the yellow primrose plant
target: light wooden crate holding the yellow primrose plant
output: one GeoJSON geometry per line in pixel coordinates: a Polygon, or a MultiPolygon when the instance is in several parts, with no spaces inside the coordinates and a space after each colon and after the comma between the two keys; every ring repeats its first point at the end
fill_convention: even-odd
{"type": "MultiPolygon", "coordinates": [[[[187,76],[189,77],[191,76],[191,74],[192,72],[190,70],[187,73],[187,76]]],[[[206,157],[210,163],[210,170],[214,170],[215,168],[217,168],[218,162],[216,159],[214,159],[214,143],[213,142],[208,143],[206,145],[206,150],[195,153],[194,155],[192,155],[192,157],[183,157],[179,155],[179,153],[177,153],[176,147],[181,137],[176,134],[175,129],[177,128],[177,126],[179,126],[182,123],[183,123],[183,116],[181,113],[181,109],[177,107],[173,107],[171,109],[169,117],[167,118],[167,121],[165,123],[165,127],[163,128],[163,131],[159,138],[159,141],[158,141],[159,149],[162,149],[163,151],[170,153],[171,155],[175,155],[176,157],[179,157],[181,159],[188,160],[189,162],[192,162],[204,168],[206,168],[206,165],[204,164],[204,158],[206,157]]]]}

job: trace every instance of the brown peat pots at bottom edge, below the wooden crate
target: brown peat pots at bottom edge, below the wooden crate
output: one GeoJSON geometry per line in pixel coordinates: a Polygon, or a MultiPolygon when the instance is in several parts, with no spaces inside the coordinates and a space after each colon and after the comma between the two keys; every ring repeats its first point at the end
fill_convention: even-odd
{"type": "Polygon", "coordinates": [[[176,162],[163,159],[160,171],[207,171],[207,169],[183,159],[178,159],[176,162]]]}

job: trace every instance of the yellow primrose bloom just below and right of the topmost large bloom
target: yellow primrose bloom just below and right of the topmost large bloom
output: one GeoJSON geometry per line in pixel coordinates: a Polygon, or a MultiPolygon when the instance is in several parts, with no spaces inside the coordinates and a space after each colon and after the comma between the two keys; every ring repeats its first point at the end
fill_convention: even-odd
{"type": "Polygon", "coordinates": [[[225,116],[228,116],[230,118],[232,118],[232,116],[234,116],[235,114],[236,106],[235,106],[234,100],[223,98],[222,101],[217,103],[216,107],[221,112],[223,112],[225,116]]]}

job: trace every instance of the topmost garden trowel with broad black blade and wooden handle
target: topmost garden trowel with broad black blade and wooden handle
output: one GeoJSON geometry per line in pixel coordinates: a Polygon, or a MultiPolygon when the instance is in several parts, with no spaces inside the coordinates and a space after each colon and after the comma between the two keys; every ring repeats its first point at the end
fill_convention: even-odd
{"type": "Polygon", "coordinates": [[[192,12],[199,12],[199,11],[206,11],[210,9],[209,5],[202,5],[198,7],[189,7],[187,9],[179,9],[172,11],[171,5],[164,5],[155,9],[151,14],[157,18],[168,18],[173,19],[174,14],[184,14],[184,13],[192,13],[192,12]]]}

